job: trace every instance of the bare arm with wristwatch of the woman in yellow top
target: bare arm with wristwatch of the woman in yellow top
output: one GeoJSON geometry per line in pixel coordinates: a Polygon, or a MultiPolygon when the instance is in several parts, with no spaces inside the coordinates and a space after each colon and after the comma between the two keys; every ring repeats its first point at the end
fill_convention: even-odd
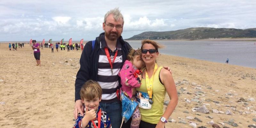
{"type": "MultiPolygon", "coordinates": [[[[175,109],[176,105],[178,104],[178,94],[177,94],[176,86],[175,86],[175,83],[174,83],[174,80],[172,78],[172,74],[170,73],[170,71],[168,71],[166,69],[161,69],[160,79],[161,79],[162,83],[164,84],[164,87],[171,99],[169,104],[167,105],[167,108],[164,111],[164,115],[162,116],[167,120],[172,115],[173,110],[175,109]]],[[[159,120],[156,127],[164,128],[164,123],[161,120],[159,120]]]]}

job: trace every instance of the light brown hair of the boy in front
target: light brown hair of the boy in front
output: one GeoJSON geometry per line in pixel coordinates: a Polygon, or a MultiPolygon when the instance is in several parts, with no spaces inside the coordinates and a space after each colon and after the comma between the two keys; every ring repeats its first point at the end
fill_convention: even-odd
{"type": "Polygon", "coordinates": [[[80,90],[80,97],[81,99],[86,100],[93,100],[96,97],[99,97],[101,99],[102,95],[102,89],[100,87],[100,84],[93,81],[88,80],[84,83],[80,90]]]}

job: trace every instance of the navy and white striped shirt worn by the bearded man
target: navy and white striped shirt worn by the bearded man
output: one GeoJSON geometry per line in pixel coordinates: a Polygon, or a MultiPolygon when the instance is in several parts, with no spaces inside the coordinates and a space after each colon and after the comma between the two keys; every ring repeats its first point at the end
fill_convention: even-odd
{"type": "Polygon", "coordinates": [[[118,50],[116,59],[113,64],[113,69],[112,69],[113,75],[112,75],[111,67],[108,62],[108,58],[104,49],[107,46],[105,37],[103,36],[101,38],[100,56],[99,56],[99,63],[98,63],[98,83],[102,88],[102,98],[101,98],[102,103],[110,103],[118,100],[116,95],[116,90],[119,85],[118,72],[122,68],[122,51],[121,51],[121,43],[118,40],[116,45],[117,47],[113,52],[108,48],[111,62],[113,62],[115,53],[118,50]]]}

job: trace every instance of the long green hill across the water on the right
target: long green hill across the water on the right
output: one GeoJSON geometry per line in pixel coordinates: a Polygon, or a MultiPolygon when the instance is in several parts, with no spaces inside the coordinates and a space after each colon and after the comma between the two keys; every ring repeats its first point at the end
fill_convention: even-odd
{"type": "Polygon", "coordinates": [[[255,38],[256,28],[186,28],[176,31],[143,32],[127,40],[141,39],[208,39],[208,38],[255,38]]]}

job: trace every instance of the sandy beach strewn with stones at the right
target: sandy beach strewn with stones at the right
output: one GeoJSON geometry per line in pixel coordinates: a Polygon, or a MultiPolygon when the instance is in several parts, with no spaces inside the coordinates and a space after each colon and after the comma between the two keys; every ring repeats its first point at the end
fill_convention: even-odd
{"type": "MultiPolygon", "coordinates": [[[[41,67],[35,66],[36,61],[29,44],[17,51],[9,51],[8,44],[1,43],[1,128],[73,126],[74,85],[81,51],[67,52],[59,49],[57,52],[54,49],[54,53],[51,53],[49,48],[40,51],[41,67]]],[[[170,120],[176,122],[168,122],[166,128],[190,128],[191,121],[197,123],[197,127],[211,128],[212,125],[207,124],[211,120],[215,124],[220,123],[220,127],[223,127],[223,122],[233,121],[231,124],[224,123],[230,128],[235,124],[238,128],[256,124],[256,119],[253,121],[256,118],[256,68],[163,54],[157,63],[172,69],[179,94],[179,103],[170,117],[170,120]],[[203,105],[209,114],[192,111],[203,105]],[[224,114],[213,113],[215,109],[224,114]],[[232,115],[227,115],[227,110],[232,115]]],[[[166,104],[168,101],[166,94],[166,104]]]]}

